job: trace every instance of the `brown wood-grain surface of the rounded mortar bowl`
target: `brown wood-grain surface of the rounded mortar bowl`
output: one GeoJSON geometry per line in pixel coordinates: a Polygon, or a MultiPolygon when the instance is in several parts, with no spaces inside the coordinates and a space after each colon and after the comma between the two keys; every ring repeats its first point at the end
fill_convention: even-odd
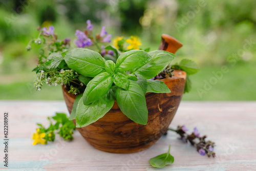
{"type": "MultiPolygon", "coordinates": [[[[95,148],[112,153],[134,153],[153,145],[172,121],[185,86],[184,71],[176,71],[176,76],[161,79],[171,93],[147,93],[148,121],[146,125],[135,123],[119,109],[116,101],[112,109],[96,122],[77,128],[81,135],[95,148]],[[180,76],[180,77],[179,77],[180,76]]],[[[69,112],[75,96],[62,87],[69,112]]],[[[75,122],[75,121],[74,121],[75,122]]]]}

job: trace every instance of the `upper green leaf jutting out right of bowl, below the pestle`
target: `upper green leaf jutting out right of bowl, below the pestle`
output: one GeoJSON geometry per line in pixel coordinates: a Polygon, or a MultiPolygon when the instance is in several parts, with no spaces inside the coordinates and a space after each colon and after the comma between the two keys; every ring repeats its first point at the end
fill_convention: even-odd
{"type": "Polygon", "coordinates": [[[172,69],[185,71],[187,75],[196,74],[199,71],[197,63],[190,59],[182,59],[179,63],[172,65],[172,69]]]}

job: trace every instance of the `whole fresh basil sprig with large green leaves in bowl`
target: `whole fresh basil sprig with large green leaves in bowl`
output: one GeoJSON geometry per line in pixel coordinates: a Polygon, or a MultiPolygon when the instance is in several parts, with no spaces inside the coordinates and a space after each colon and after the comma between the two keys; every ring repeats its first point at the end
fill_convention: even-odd
{"type": "MultiPolygon", "coordinates": [[[[109,47],[112,48],[112,47],[109,47]]],[[[62,52],[68,67],[87,85],[75,99],[71,119],[76,127],[87,126],[109,112],[116,100],[124,115],[136,123],[147,123],[145,93],[170,93],[160,80],[148,80],[164,70],[174,54],[156,50],[131,50],[119,54],[116,63],[92,50],[76,48],[62,52]]]]}

